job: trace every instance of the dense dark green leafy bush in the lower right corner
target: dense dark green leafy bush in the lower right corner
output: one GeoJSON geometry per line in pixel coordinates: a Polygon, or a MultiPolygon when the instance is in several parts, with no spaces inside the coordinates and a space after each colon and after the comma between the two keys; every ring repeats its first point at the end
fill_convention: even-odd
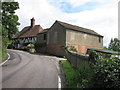
{"type": "Polygon", "coordinates": [[[120,88],[120,59],[96,60],[93,86],[97,88],[120,88]]]}

